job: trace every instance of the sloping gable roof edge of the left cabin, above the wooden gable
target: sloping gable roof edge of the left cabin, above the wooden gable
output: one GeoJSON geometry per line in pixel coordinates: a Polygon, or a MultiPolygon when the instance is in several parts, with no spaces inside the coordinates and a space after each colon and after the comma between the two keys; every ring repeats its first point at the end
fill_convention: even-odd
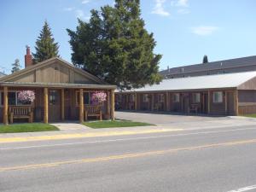
{"type": "Polygon", "coordinates": [[[24,68],[24,69],[22,69],[22,70],[20,70],[18,72],[15,72],[15,73],[3,76],[3,77],[0,78],[0,82],[12,82],[12,79],[16,79],[16,78],[20,77],[21,75],[25,75],[26,73],[30,73],[30,72],[32,72],[35,69],[38,69],[38,68],[41,68],[41,67],[46,67],[46,66],[48,66],[50,64],[53,64],[55,61],[60,61],[60,63],[62,65],[65,65],[65,66],[67,66],[69,68],[73,68],[73,70],[76,73],[84,75],[84,77],[86,77],[87,79],[91,79],[93,81],[96,81],[99,84],[108,84],[107,82],[103,81],[102,79],[99,79],[96,76],[94,76],[94,75],[92,75],[92,74],[90,74],[88,72],[85,72],[83,69],[74,67],[72,64],[70,64],[69,62],[67,62],[65,60],[62,60],[59,57],[50,58],[49,60],[39,62],[36,65],[32,65],[30,67],[26,67],[26,68],[24,68]]]}

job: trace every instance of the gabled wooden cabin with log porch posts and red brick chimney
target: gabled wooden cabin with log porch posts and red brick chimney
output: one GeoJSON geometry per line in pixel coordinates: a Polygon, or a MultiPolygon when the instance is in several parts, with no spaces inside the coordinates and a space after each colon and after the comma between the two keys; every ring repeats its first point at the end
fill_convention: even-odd
{"type": "Polygon", "coordinates": [[[3,119],[3,124],[9,123],[10,113],[14,110],[20,119],[32,113],[31,121],[83,122],[84,110],[92,105],[90,96],[95,91],[107,94],[107,101],[99,107],[103,118],[114,118],[115,85],[57,57],[33,65],[29,47],[26,48],[25,69],[1,77],[0,87],[0,119],[3,119]],[[20,90],[33,90],[35,100],[20,102],[20,90]]]}

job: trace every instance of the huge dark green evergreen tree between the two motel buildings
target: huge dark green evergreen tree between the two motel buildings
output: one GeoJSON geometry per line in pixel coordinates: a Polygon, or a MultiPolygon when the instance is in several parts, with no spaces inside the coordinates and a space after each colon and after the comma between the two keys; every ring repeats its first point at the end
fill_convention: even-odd
{"type": "Polygon", "coordinates": [[[161,80],[161,55],[141,18],[139,0],[115,0],[114,7],[91,10],[89,22],[79,20],[76,31],[67,29],[73,64],[119,89],[143,87],[161,80]]]}

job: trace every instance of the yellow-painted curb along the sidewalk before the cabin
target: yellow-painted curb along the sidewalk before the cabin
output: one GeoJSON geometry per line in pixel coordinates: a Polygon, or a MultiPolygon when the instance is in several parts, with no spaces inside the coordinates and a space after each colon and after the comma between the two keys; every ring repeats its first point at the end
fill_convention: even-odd
{"type": "Polygon", "coordinates": [[[183,129],[152,129],[141,131],[106,131],[106,132],[90,132],[90,133],[78,133],[78,134],[60,134],[54,136],[37,136],[37,137],[5,137],[0,138],[0,143],[15,143],[15,142],[34,142],[44,140],[60,140],[71,138],[84,138],[84,137],[110,137],[110,136],[125,136],[125,135],[137,135],[137,134],[149,134],[171,131],[183,131],[183,129]]]}

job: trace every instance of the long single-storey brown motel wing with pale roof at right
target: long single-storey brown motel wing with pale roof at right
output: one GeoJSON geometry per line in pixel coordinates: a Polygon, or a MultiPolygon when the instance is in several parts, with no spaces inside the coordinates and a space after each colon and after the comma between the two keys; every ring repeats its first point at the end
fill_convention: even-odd
{"type": "MultiPolygon", "coordinates": [[[[256,62],[252,63],[256,61],[256,57],[254,60],[250,59],[250,65],[255,65],[256,62]]],[[[242,72],[237,73],[239,68],[236,68],[236,73],[230,71],[211,75],[207,68],[191,77],[177,74],[170,79],[163,79],[160,84],[116,91],[116,109],[211,115],[256,113],[256,71],[244,72],[249,70],[241,67],[242,72]]]]}

